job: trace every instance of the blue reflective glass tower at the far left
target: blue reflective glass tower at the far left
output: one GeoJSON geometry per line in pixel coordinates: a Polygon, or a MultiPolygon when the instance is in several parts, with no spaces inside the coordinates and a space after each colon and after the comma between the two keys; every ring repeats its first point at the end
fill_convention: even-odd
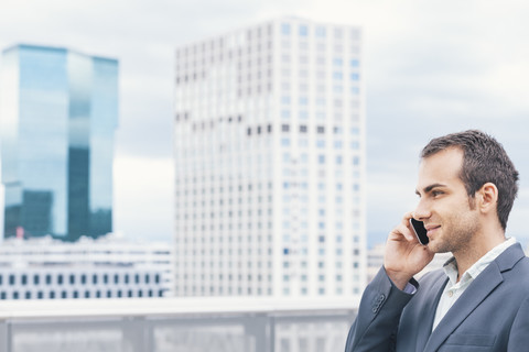
{"type": "Polygon", "coordinates": [[[111,232],[118,62],[17,45],[1,64],[4,237],[111,232]]]}

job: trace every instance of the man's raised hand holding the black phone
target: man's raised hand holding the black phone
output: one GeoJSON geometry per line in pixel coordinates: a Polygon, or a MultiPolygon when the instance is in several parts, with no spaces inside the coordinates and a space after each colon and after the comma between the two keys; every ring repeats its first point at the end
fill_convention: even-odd
{"type": "Polygon", "coordinates": [[[410,226],[412,212],[407,212],[388,235],[384,267],[395,286],[400,289],[433,260],[434,253],[422,245],[413,234],[410,226]]]}

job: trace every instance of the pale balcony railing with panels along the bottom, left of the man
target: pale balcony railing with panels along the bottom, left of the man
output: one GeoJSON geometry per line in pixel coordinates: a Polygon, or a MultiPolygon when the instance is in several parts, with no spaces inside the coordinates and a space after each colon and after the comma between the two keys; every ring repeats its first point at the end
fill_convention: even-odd
{"type": "Polygon", "coordinates": [[[344,349],[358,301],[4,300],[0,352],[335,352],[344,349]]]}

